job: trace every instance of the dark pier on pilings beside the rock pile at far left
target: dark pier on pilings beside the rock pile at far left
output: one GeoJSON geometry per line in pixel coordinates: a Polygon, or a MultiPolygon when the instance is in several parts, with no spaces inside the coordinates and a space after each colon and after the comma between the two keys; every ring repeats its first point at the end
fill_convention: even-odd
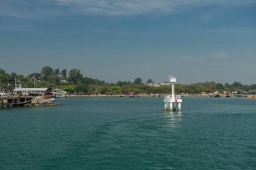
{"type": "Polygon", "coordinates": [[[29,105],[33,96],[0,96],[0,108],[13,108],[29,105]]]}

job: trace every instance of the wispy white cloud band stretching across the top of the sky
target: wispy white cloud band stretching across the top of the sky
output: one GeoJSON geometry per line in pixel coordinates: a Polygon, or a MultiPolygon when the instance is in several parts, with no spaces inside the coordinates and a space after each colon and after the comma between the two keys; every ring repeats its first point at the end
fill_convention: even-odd
{"type": "Polygon", "coordinates": [[[250,5],[255,0],[2,0],[0,15],[40,17],[42,15],[138,15],[176,13],[195,7],[250,5]]]}

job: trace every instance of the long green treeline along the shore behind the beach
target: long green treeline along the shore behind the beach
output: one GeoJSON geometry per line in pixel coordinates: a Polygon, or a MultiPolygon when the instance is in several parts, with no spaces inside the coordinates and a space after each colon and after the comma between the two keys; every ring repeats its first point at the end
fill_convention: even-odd
{"type": "MultiPolygon", "coordinates": [[[[108,83],[90,77],[84,77],[79,69],[67,69],[60,71],[49,66],[42,67],[40,73],[31,73],[30,75],[18,75],[16,73],[5,73],[0,69],[0,87],[1,91],[13,91],[15,88],[15,79],[17,79],[18,87],[53,87],[64,89],[68,93],[91,94],[98,93],[171,93],[170,86],[152,87],[146,85],[154,83],[152,79],[148,79],[146,84],[142,83],[141,78],[135,78],[131,81],[118,81],[117,83],[108,83]]],[[[214,91],[236,91],[243,89],[246,91],[255,90],[256,84],[242,85],[234,82],[232,84],[215,83],[214,81],[205,83],[194,83],[190,85],[175,85],[176,93],[213,93],[214,91]]]]}

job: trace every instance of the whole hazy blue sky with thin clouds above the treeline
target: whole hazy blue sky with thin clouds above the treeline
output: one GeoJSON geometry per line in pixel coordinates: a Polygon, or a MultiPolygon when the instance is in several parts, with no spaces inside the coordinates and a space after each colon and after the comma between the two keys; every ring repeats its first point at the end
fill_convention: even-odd
{"type": "Polygon", "coordinates": [[[255,0],[0,0],[0,69],[256,83],[255,0]]]}

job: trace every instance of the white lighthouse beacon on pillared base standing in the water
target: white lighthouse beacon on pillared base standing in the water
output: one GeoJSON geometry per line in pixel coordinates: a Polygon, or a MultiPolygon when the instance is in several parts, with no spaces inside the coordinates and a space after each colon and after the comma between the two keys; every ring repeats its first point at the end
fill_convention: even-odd
{"type": "Polygon", "coordinates": [[[176,110],[176,103],[178,103],[178,110],[181,110],[181,95],[174,95],[174,83],[176,83],[176,77],[170,77],[170,83],[172,84],[172,95],[166,95],[164,97],[164,110],[168,108],[170,111],[176,110]]]}

